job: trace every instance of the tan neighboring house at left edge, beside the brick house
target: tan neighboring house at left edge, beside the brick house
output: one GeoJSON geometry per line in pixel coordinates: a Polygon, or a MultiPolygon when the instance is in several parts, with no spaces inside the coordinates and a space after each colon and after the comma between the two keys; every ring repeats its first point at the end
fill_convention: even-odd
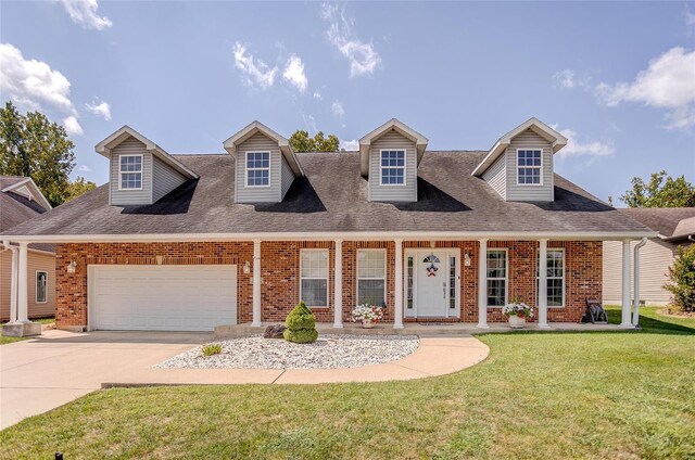
{"type": "MultiPolygon", "coordinates": [[[[27,177],[0,176],[0,232],[28,221],[51,209],[41,191],[27,177]]],[[[55,312],[55,245],[28,247],[28,317],[41,318],[55,312]]],[[[10,318],[12,251],[0,238],[0,321],[10,318]]]]}

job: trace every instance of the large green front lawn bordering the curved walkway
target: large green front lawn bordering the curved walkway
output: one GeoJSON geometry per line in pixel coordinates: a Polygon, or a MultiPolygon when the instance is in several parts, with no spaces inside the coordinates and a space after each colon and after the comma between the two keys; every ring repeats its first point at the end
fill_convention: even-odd
{"type": "Polygon", "coordinates": [[[695,320],[642,314],[480,335],[485,361],[426,380],[100,391],[1,432],[0,457],[695,458],[695,320]]]}

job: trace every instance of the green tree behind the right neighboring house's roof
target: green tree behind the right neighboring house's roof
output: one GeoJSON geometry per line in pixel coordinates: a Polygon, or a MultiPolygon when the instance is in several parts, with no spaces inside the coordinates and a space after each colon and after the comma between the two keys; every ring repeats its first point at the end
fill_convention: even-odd
{"type": "Polygon", "coordinates": [[[630,207],[692,207],[695,206],[695,187],[685,176],[671,178],[665,170],[654,173],[648,183],[632,178],[632,189],[620,200],[630,207]]]}

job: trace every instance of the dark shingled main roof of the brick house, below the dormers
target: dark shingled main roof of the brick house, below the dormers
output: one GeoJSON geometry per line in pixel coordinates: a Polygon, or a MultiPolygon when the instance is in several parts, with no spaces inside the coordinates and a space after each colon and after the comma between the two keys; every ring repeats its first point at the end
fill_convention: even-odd
{"type": "MultiPolygon", "coordinates": [[[[560,176],[555,202],[505,202],[482,179],[471,176],[486,152],[429,151],[418,168],[418,201],[367,201],[359,153],[299,153],[305,177],[294,180],[275,204],[235,204],[235,162],[227,154],[175,155],[200,174],[159,202],[110,206],[102,186],[77,200],[7,232],[15,237],[451,232],[507,235],[653,235],[560,176]]],[[[48,238],[47,238],[48,239],[48,238]]]]}

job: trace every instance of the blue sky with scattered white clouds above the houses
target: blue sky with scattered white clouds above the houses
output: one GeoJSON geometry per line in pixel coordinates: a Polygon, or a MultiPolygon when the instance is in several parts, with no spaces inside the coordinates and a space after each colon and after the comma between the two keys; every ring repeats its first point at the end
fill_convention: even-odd
{"type": "Polygon", "coordinates": [[[2,101],[40,108],[103,183],[127,124],[218,153],[258,119],[350,146],[396,117],[429,150],[488,150],[531,116],[556,171],[602,199],[666,169],[695,181],[695,2],[5,2],[2,101]]]}

